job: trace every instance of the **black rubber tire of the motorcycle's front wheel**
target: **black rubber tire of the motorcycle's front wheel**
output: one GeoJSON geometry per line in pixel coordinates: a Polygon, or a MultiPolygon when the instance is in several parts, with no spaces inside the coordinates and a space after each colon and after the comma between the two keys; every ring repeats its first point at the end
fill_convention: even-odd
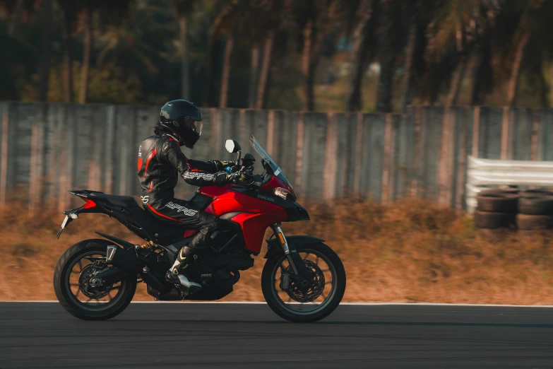
{"type": "Polygon", "coordinates": [[[328,302],[325,300],[321,303],[321,305],[324,304],[321,309],[316,309],[313,312],[293,312],[290,308],[285,306],[280,298],[278,298],[278,293],[275,293],[273,271],[275,271],[275,268],[278,267],[278,264],[283,259],[283,254],[276,254],[268,259],[265,266],[263,266],[263,273],[261,274],[261,290],[263,291],[263,297],[273,312],[290,322],[317,322],[327,317],[338,307],[345,293],[345,269],[338,254],[336,254],[331,247],[328,247],[322,242],[304,245],[302,249],[297,250],[297,252],[309,252],[309,250],[325,257],[328,260],[326,261],[328,266],[332,264],[331,268],[335,271],[335,275],[333,275],[333,278],[335,278],[335,280],[333,280],[335,286],[333,286],[332,291],[329,292],[331,294],[329,296],[330,299],[328,302]]]}

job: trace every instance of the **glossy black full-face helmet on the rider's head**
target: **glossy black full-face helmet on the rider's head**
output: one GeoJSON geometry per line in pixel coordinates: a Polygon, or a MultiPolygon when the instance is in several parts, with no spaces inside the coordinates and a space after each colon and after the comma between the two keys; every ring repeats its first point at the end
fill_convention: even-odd
{"type": "Polygon", "coordinates": [[[172,100],[161,107],[160,124],[175,135],[179,145],[193,148],[203,126],[201,112],[194,102],[172,100]]]}

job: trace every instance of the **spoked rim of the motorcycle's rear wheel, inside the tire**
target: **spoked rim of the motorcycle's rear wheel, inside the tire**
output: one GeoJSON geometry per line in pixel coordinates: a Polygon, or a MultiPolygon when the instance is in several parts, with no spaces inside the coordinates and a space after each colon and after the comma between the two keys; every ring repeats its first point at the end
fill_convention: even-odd
{"type": "Polygon", "coordinates": [[[105,252],[85,252],[77,259],[73,260],[67,271],[65,284],[69,298],[73,300],[73,303],[76,303],[84,310],[107,310],[117,304],[123,296],[123,291],[126,289],[127,282],[125,280],[113,283],[111,286],[106,287],[105,290],[107,290],[107,293],[105,293],[105,291],[103,293],[95,293],[95,290],[92,287],[86,289],[84,280],[88,279],[86,278],[86,274],[93,264],[93,259],[105,258],[105,256],[105,252]],[[94,296],[102,297],[95,298],[94,296]],[[83,300],[81,300],[81,298],[83,300]]]}

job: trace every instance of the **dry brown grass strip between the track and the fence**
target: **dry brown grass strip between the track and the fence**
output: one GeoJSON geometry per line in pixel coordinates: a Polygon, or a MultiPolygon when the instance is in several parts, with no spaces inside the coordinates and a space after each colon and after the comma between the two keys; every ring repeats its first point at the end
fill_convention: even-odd
{"type": "MultiPolygon", "coordinates": [[[[338,252],[347,273],[345,301],[553,305],[551,234],[476,234],[464,213],[418,199],[390,206],[348,199],[308,208],[312,221],[283,228],[326,239],[338,252]]],[[[139,241],[117,221],[93,215],[56,240],[61,214],[42,210],[14,218],[13,209],[0,209],[0,300],[55,299],[57,259],[73,243],[98,238],[94,230],[139,241]]],[[[262,256],[225,300],[263,299],[262,256]]],[[[141,286],[136,299],[152,298],[141,286]]]]}

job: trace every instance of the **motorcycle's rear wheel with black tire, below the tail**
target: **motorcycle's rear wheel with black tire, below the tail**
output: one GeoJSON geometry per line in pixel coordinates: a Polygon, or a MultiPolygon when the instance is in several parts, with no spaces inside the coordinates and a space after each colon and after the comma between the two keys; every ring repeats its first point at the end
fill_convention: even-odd
{"type": "Polygon", "coordinates": [[[84,240],[78,242],[76,245],[69,247],[69,249],[61,255],[56,265],[54,271],[54,291],[56,296],[61,306],[64,307],[69,314],[79,319],[111,319],[119,315],[129,306],[136,292],[136,276],[129,276],[129,278],[119,282],[117,294],[108,301],[106,301],[108,295],[109,298],[111,298],[111,294],[115,291],[114,285],[105,288],[106,291],[109,291],[109,293],[105,295],[103,295],[105,292],[98,295],[91,295],[90,291],[83,291],[82,285],[85,283],[84,278],[81,277],[83,273],[85,273],[83,269],[87,267],[90,269],[91,265],[89,264],[83,267],[83,261],[87,260],[93,263],[93,260],[105,257],[108,245],[113,245],[113,243],[107,240],[84,240]],[[80,271],[74,271],[77,266],[81,267],[80,271]],[[73,282],[75,281],[76,274],[78,274],[78,283],[71,283],[71,279],[73,279],[73,282]],[[73,292],[75,288],[77,288],[77,290],[73,292]],[[93,296],[90,300],[96,300],[96,303],[89,303],[90,300],[86,302],[79,300],[79,296],[82,296],[84,293],[86,294],[85,298],[93,296]]]}

